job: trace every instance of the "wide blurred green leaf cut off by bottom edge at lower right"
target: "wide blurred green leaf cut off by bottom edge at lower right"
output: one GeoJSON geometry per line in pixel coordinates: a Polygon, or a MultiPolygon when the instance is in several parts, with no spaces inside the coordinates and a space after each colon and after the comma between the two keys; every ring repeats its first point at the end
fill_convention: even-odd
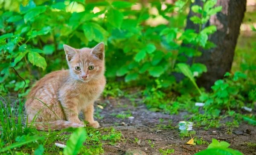
{"type": "Polygon", "coordinates": [[[243,155],[241,152],[233,149],[205,149],[195,155],[243,155]]]}

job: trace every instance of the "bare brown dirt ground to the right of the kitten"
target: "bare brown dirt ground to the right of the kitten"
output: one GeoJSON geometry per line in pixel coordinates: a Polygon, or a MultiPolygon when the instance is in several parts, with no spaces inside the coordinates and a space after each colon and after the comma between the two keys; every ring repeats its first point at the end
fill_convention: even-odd
{"type": "MultiPolygon", "coordinates": [[[[128,99],[110,99],[100,116],[104,116],[102,119],[98,119],[102,127],[114,127],[116,130],[121,131],[125,138],[134,141],[134,138],[140,140],[140,145],[126,140],[125,143],[119,142],[116,146],[105,144],[103,146],[106,155],[124,155],[128,149],[140,149],[146,152],[147,155],[160,155],[159,149],[171,148],[175,152],[173,155],[193,155],[203,149],[207,149],[207,144],[202,145],[189,145],[185,144],[189,141],[189,138],[183,138],[181,140],[177,129],[156,129],[157,124],[160,124],[159,119],[163,118],[162,124],[168,124],[168,120],[172,120],[172,126],[176,126],[179,121],[183,121],[183,116],[188,113],[179,113],[179,115],[166,115],[160,112],[152,112],[146,109],[145,105],[141,104],[134,107],[131,101],[128,99]],[[122,119],[112,116],[111,113],[120,113],[121,111],[130,110],[134,119],[122,119]],[[127,126],[122,126],[122,122],[127,126]],[[118,125],[117,125],[118,124],[118,125]],[[148,144],[146,140],[151,140],[154,144],[154,148],[148,144]],[[145,144],[143,145],[143,142],[145,144]]],[[[103,103],[106,101],[102,101],[103,103]]],[[[101,103],[102,103],[101,102],[101,103]]],[[[256,143],[256,127],[248,124],[241,124],[240,127],[234,128],[233,131],[244,132],[243,135],[236,135],[234,133],[227,134],[227,128],[220,127],[215,129],[204,130],[202,127],[193,127],[196,131],[196,135],[199,138],[204,138],[205,141],[211,143],[212,138],[219,141],[227,141],[230,143],[230,148],[237,149],[244,155],[256,155],[256,149],[247,147],[246,142],[256,143]],[[249,132],[248,132],[249,131],[249,132]],[[247,133],[246,133],[247,132],[247,133]]]]}

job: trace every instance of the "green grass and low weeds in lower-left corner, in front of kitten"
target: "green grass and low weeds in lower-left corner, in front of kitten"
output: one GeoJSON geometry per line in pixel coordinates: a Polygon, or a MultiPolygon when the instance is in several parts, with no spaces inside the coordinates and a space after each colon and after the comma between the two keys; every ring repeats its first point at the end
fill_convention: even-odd
{"type": "MultiPolygon", "coordinates": [[[[49,155],[55,155],[64,153],[68,155],[67,151],[63,152],[62,148],[55,147],[55,142],[60,144],[67,144],[67,147],[74,143],[82,144],[83,140],[73,138],[70,135],[74,134],[86,134],[86,145],[81,145],[78,151],[82,154],[100,154],[103,153],[102,146],[104,144],[115,145],[117,141],[123,139],[121,133],[114,128],[101,128],[93,129],[91,127],[85,127],[85,133],[80,131],[76,132],[76,129],[68,128],[61,131],[38,131],[34,127],[28,127],[26,123],[26,117],[23,115],[23,106],[25,101],[17,99],[15,104],[8,99],[1,97],[3,101],[0,101],[0,154],[17,154],[22,153],[42,153],[49,155]],[[68,143],[67,140],[71,139],[68,143]],[[76,141],[77,140],[77,141],[76,141]],[[80,141],[80,142],[79,142],[80,141]]],[[[22,154],[23,155],[23,154],[22,154]]],[[[39,154],[38,154],[39,155],[39,154]]]]}

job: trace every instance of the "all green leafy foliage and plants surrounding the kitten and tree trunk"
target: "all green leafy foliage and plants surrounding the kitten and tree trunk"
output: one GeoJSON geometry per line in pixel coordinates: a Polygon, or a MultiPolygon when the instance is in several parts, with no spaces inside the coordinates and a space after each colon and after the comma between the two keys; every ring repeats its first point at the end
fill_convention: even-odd
{"type": "MultiPolygon", "coordinates": [[[[221,10],[221,7],[215,7],[216,0],[202,1],[204,7],[191,8],[200,16],[189,19],[201,27],[211,15],[221,10]]],[[[247,13],[241,25],[243,33],[248,31],[246,35],[250,37],[240,38],[231,72],[216,81],[207,93],[196,85],[196,79],[207,72],[205,65],[194,63],[189,66],[184,62],[187,57],[200,56],[200,47],[215,47],[208,41],[208,35],[214,33],[216,27],[202,27],[198,33],[191,29],[185,31],[191,3],[193,0],[177,0],[175,3],[155,0],[148,3],[135,0],[87,0],[86,3],[84,0],[0,0],[0,95],[18,94],[23,98],[35,81],[45,74],[67,69],[63,44],[91,48],[104,42],[105,76],[108,79],[104,97],[125,96],[131,103],[140,97],[149,110],[169,114],[187,110],[191,115],[184,119],[196,122],[205,130],[226,125],[227,132],[232,132],[242,119],[255,125],[255,115],[242,113],[242,107],[254,108],[256,102],[255,15],[247,13]],[[183,44],[189,44],[190,48],[183,44]],[[175,72],[183,73],[186,78],[176,82],[175,72]],[[139,89],[131,95],[128,89],[131,87],[139,89]],[[195,107],[197,101],[205,103],[201,112],[195,107]],[[232,121],[220,122],[227,117],[232,121]]],[[[54,138],[45,141],[44,146],[33,144],[30,148],[50,151],[49,146],[57,139],[55,135],[61,132],[46,135],[23,127],[23,104],[20,101],[16,105],[15,102],[17,111],[14,111],[13,107],[1,102],[0,122],[5,124],[8,120],[8,125],[0,129],[5,131],[1,133],[4,140],[0,141],[0,148],[8,150],[15,142],[30,143],[52,136],[54,138]],[[16,119],[17,114],[18,124],[8,117],[11,115],[16,119]],[[35,133],[44,137],[32,136],[35,133]]],[[[129,116],[130,111],[116,115],[119,118],[129,116]]],[[[171,125],[168,127],[172,128],[171,125]]],[[[87,133],[77,131],[75,134],[87,134],[87,139],[80,141],[93,144],[90,149],[84,147],[84,152],[102,153],[101,141],[110,141],[112,145],[121,139],[116,130],[106,130],[108,135],[89,129],[86,129],[87,133]]],[[[191,133],[181,133],[184,135],[191,136],[191,133]]]]}

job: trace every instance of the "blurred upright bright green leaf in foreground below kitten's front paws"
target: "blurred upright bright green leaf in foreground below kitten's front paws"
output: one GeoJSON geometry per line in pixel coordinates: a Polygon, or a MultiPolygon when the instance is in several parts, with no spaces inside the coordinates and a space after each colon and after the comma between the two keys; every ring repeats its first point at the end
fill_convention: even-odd
{"type": "Polygon", "coordinates": [[[78,128],[67,140],[67,147],[64,148],[64,155],[77,155],[84,141],[87,138],[87,132],[84,128],[78,128]]]}

